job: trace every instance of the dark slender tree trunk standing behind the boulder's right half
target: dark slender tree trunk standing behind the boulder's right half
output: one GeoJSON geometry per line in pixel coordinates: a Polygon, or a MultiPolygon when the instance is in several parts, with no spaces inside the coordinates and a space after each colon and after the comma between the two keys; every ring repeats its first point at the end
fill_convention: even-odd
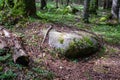
{"type": "Polygon", "coordinates": [[[84,0],[84,12],[83,12],[83,20],[85,23],[89,23],[89,5],[90,0],[84,0]]]}

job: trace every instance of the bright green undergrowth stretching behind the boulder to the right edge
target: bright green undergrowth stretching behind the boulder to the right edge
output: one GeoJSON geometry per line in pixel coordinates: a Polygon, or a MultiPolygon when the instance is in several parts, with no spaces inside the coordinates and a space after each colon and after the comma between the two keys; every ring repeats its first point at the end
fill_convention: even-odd
{"type": "MultiPolygon", "coordinates": [[[[108,44],[120,44],[120,24],[114,24],[115,21],[109,22],[110,10],[103,10],[101,7],[97,11],[98,15],[90,15],[89,24],[82,21],[82,12],[79,15],[71,14],[70,12],[64,13],[64,8],[55,9],[53,4],[48,4],[52,10],[38,11],[38,16],[46,19],[46,22],[57,22],[65,25],[74,26],[80,29],[90,30],[103,36],[105,42],[108,44]],[[113,23],[113,24],[112,24],[113,23]]],[[[83,6],[79,6],[81,11],[83,6]]]]}

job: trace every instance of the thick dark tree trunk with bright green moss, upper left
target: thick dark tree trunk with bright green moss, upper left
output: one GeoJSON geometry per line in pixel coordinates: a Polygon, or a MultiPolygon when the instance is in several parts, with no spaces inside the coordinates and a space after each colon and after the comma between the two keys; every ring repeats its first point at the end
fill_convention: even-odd
{"type": "MultiPolygon", "coordinates": [[[[13,2],[9,0],[9,2],[5,3],[13,6],[11,8],[13,15],[36,16],[35,0],[14,0],[13,2]]],[[[6,9],[9,9],[9,7],[6,9]]]]}

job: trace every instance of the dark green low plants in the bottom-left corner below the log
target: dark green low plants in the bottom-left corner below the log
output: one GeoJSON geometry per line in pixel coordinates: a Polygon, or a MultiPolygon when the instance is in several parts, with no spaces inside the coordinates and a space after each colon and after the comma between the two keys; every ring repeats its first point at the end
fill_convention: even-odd
{"type": "Polygon", "coordinates": [[[29,67],[15,64],[12,53],[0,56],[0,80],[53,80],[54,74],[38,63],[30,63],[29,67]]]}

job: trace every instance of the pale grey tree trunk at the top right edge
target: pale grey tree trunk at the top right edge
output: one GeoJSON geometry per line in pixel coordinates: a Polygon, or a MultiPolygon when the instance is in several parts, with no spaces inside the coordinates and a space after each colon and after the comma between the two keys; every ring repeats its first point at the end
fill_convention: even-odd
{"type": "Polygon", "coordinates": [[[119,8],[120,8],[120,0],[113,0],[112,2],[112,18],[119,19],[119,8]]]}

